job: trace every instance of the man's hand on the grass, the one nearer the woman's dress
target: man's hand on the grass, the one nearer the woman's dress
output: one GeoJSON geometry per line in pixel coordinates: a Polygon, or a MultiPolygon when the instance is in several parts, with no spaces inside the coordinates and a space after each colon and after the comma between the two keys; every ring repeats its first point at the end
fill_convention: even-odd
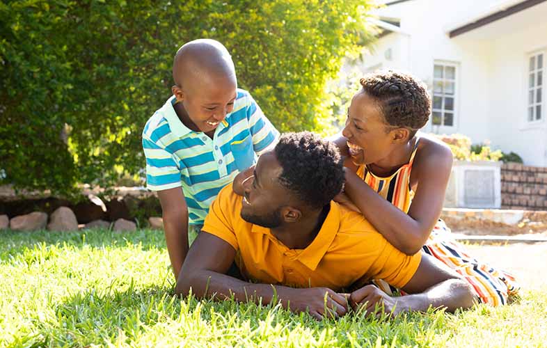
{"type": "Polygon", "coordinates": [[[397,315],[405,310],[401,299],[389,296],[374,285],[365,285],[349,295],[349,304],[354,310],[360,306],[366,306],[367,313],[376,316],[381,315],[382,312],[397,315]],[[378,312],[376,312],[376,305],[378,305],[378,312]]]}

